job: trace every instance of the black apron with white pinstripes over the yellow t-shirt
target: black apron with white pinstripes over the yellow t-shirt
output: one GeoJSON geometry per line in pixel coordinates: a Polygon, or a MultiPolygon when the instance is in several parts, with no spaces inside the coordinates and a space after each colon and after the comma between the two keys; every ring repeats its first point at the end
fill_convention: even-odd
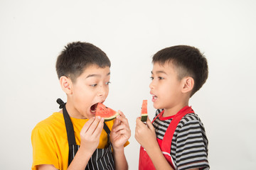
{"type": "MultiPolygon", "coordinates": [[[[63,117],[65,120],[65,128],[67,130],[68,135],[68,166],[72,162],[75,157],[76,152],[78,152],[79,145],[76,145],[75,142],[75,132],[73,128],[73,124],[70,120],[70,116],[68,115],[68,111],[65,108],[65,103],[58,98],[57,103],[60,104],[60,108],[63,108],[63,117]]],[[[112,156],[112,146],[110,143],[110,129],[104,123],[103,129],[107,132],[107,141],[108,146],[105,149],[96,149],[92,154],[92,157],[89,159],[85,170],[90,169],[109,169],[114,170],[114,159],[112,156]]]]}

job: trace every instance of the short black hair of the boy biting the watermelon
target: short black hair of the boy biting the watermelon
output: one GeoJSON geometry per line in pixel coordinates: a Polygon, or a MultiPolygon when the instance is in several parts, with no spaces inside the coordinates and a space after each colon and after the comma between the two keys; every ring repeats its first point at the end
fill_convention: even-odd
{"type": "Polygon", "coordinates": [[[65,76],[75,82],[76,78],[92,64],[100,68],[111,66],[110,59],[99,47],[89,42],[70,42],[57,58],[58,79],[65,76]]]}

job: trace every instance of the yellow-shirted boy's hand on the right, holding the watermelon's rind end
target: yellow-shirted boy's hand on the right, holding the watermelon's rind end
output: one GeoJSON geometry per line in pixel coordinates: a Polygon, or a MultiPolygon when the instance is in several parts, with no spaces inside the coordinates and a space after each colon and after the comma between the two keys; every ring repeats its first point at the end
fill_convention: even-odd
{"type": "Polygon", "coordinates": [[[114,149],[123,149],[125,142],[131,137],[131,130],[127,118],[122,111],[118,111],[119,115],[114,120],[111,130],[110,140],[114,149]]]}

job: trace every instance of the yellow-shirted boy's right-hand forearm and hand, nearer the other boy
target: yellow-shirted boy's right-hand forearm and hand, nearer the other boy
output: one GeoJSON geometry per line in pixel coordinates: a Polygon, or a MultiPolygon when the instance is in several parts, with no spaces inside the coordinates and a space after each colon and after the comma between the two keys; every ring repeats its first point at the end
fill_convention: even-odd
{"type": "Polygon", "coordinates": [[[128,169],[127,159],[124,155],[124,144],[131,136],[129,123],[124,113],[119,111],[119,116],[114,120],[114,125],[110,134],[110,140],[114,150],[115,169],[128,169]]]}

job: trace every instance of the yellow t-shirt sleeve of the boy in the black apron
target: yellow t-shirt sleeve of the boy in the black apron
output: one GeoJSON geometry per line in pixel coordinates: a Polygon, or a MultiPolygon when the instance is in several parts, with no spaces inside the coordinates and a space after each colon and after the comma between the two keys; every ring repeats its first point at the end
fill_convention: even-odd
{"type": "Polygon", "coordinates": [[[53,134],[43,127],[35,127],[32,131],[31,142],[33,147],[32,170],[37,169],[40,164],[53,164],[59,169],[58,157],[55,152],[53,134]]]}

